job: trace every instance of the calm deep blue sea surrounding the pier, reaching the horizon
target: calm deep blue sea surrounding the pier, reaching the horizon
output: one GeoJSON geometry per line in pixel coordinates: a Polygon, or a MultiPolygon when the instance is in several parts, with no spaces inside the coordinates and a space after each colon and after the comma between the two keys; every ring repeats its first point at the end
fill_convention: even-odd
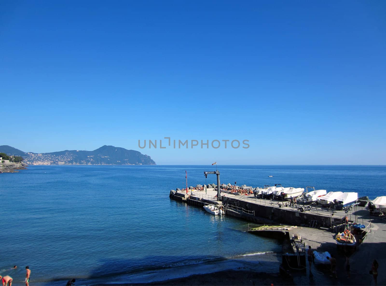
{"type": "MultiPolygon", "coordinates": [[[[386,166],[218,166],[220,183],[386,195],[386,166]],[[268,176],[273,176],[269,178],[268,176]]],[[[24,285],[149,283],[238,269],[278,272],[277,240],[171,200],[216,166],[29,166],[0,174],[0,275],[24,285]],[[17,269],[11,269],[17,265],[17,269]]]]}

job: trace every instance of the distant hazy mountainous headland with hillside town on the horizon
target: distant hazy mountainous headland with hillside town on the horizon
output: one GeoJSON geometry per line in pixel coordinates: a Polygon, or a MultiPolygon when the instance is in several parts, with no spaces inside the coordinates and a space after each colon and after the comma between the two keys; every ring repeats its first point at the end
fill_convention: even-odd
{"type": "MultiPolygon", "coordinates": [[[[3,150],[18,150],[10,146],[0,146],[3,150]]],[[[150,156],[121,147],[102,146],[94,151],[65,150],[51,153],[22,152],[24,162],[29,165],[156,165],[150,156]]],[[[16,154],[15,154],[16,155],[16,154]]]]}

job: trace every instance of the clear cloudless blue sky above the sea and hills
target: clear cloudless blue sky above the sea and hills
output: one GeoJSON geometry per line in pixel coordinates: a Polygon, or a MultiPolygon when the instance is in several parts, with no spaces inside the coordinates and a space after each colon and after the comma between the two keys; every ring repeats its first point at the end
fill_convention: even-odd
{"type": "Polygon", "coordinates": [[[0,4],[0,145],[25,152],[386,164],[385,75],[386,1],[0,4]],[[250,147],[138,147],[163,137],[250,147]]]}

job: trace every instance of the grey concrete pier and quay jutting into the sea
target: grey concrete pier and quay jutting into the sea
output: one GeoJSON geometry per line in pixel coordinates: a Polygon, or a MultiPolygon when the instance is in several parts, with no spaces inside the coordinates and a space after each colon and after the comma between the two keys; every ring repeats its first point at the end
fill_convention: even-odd
{"type": "MultiPolygon", "coordinates": [[[[379,262],[379,273],[386,271],[386,218],[370,215],[365,207],[356,206],[349,213],[345,213],[336,210],[328,211],[318,206],[312,206],[310,210],[307,210],[304,206],[305,211],[301,212],[296,207],[286,206],[285,202],[283,204],[282,201],[257,199],[253,195],[234,195],[222,192],[221,201],[217,201],[217,190],[213,188],[208,189],[206,193],[198,190],[189,190],[188,194],[181,193],[181,191],[175,192],[171,191],[170,195],[174,200],[185,201],[198,207],[202,207],[205,203],[222,204],[227,215],[249,222],[297,225],[297,228],[288,230],[289,237],[295,233],[300,234],[306,248],[310,245],[313,250],[328,251],[337,259],[338,279],[329,276],[328,267],[317,267],[313,264],[312,272],[314,274],[307,269],[294,276],[296,285],[374,285],[372,276],[369,275],[373,259],[379,262]],[[335,242],[335,233],[340,231],[340,223],[346,215],[349,221],[366,226],[366,235],[362,238],[363,243],[358,244],[356,249],[352,249],[353,252],[350,255],[352,276],[349,279],[345,275],[345,249],[337,247],[335,242]],[[315,275],[316,273],[322,275],[315,275]],[[315,276],[318,279],[315,279],[315,276]]],[[[303,207],[303,205],[298,205],[300,206],[303,207]]],[[[308,267],[305,261],[301,261],[301,264],[308,267]]],[[[386,285],[385,276],[378,276],[378,285],[386,285]]]]}

